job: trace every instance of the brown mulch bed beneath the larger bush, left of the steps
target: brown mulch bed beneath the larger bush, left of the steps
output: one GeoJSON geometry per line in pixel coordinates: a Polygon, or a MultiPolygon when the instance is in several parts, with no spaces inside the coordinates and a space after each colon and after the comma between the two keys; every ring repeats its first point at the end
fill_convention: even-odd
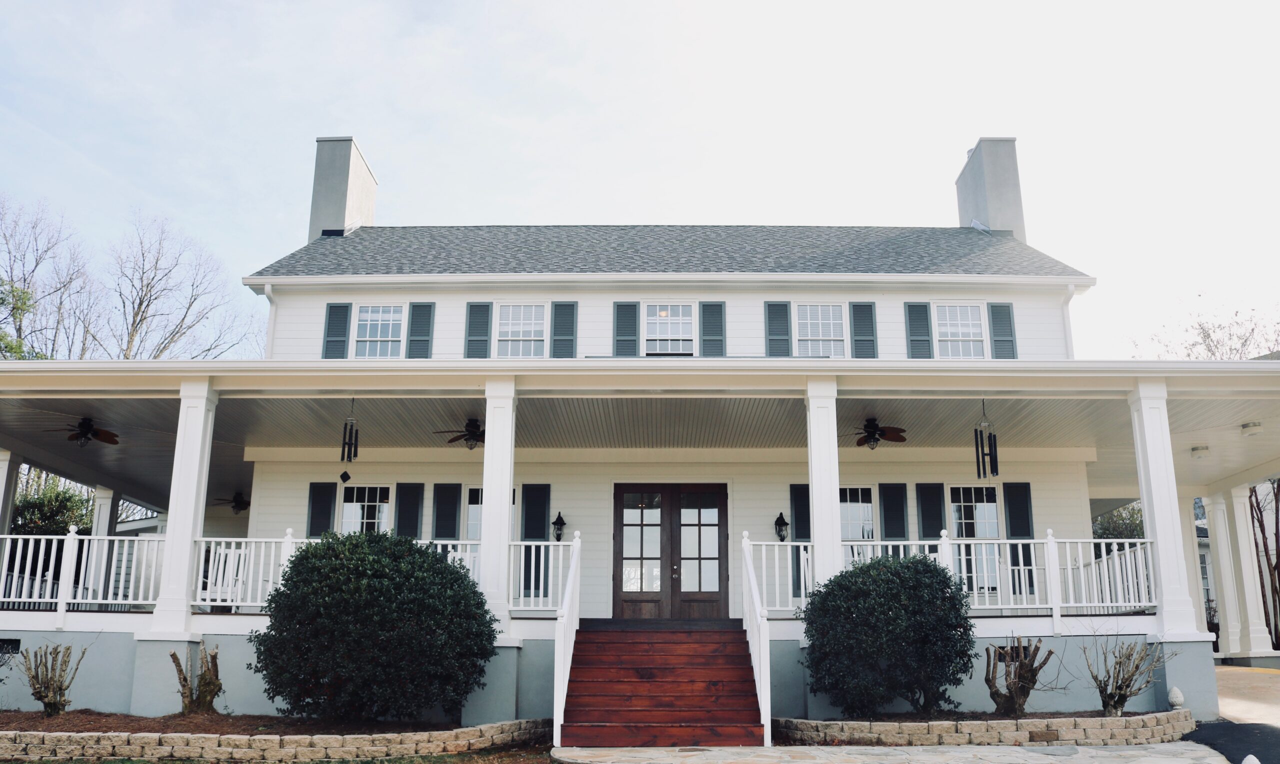
{"type": "Polygon", "coordinates": [[[430,722],[321,722],[289,717],[192,714],[131,717],[72,710],[46,718],[42,712],[0,710],[0,729],[17,732],[178,732],[186,735],[370,735],[435,732],[462,724],[430,722]]]}

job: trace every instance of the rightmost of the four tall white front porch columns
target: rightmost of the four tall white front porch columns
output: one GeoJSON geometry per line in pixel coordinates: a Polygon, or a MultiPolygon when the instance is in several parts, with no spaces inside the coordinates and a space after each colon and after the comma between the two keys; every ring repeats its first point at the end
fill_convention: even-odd
{"type": "Polygon", "coordinates": [[[1140,380],[1138,389],[1129,393],[1133,443],[1138,457],[1138,493],[1147,532],[1156,546],[1156,628],[1161,641],[1201,641],[1208,635],[1196,626],[1196,607],[1187,581],[1166,398],[1164,380],[1140,380]]]}

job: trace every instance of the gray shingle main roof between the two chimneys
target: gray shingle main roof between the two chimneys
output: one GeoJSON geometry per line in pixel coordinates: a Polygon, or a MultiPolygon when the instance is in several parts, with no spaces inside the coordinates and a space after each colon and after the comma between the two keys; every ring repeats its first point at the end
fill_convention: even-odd
{"type": "Polygon", "coordinates": [[[253,275],[508,273],[1084,276],[1007,234],[829,225],[369,227],[321,237],[253,275]]]}

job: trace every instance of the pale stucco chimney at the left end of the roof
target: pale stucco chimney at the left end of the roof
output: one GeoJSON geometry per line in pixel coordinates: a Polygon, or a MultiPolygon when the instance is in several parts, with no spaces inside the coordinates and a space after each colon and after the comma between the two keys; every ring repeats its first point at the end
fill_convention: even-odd
{"type": "Polygon", "coordinates": [[[355,138],[316,138],[316,177],[311,186],[307,242],[372,225],[376,192],[378,178],[374,178],[355,138]]]}

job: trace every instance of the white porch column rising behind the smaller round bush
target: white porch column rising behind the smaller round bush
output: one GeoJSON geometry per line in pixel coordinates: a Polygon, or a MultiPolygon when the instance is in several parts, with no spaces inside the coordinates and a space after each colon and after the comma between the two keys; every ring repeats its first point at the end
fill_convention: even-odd
{"type": "Polygon", "coordinates": [[[809,412],[809,522],[813,575],[818,584],[840,572],[840,449],[836,439],[836,378],[812,376],[809,412]]]}

